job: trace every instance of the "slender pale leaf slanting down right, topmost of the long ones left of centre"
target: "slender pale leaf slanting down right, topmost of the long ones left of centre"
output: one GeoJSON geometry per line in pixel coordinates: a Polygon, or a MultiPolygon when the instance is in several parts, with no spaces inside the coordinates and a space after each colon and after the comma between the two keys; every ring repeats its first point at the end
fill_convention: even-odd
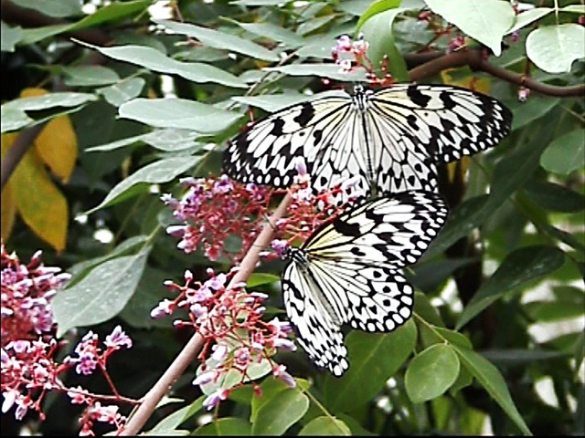
{"type": "Polygon", "coordinates": [[[155,23],[165,26],[177,34],[197,38],[209,47],[221,48],[232,52],[241,53],[248,57],[278,62],[280,57],[267,48],[235,35],[229,35],[207,27],[195,26],[186,23],[176,23],[167,20],[154,20],[155,23]]]}

